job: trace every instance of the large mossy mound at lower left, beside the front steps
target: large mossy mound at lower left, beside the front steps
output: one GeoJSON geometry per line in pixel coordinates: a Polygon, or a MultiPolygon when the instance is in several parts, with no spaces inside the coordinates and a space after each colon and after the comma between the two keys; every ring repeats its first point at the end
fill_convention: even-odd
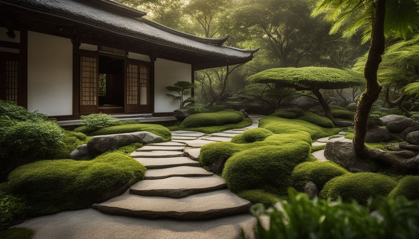
{"type": "Polygon", "coordinates": [[[121,153],[90,161],[43,160],[18,167],[9,175],[11,193],[24,196],[30,216],[88,208],[127,182],[142,180],[145,167],[121,153]]]}

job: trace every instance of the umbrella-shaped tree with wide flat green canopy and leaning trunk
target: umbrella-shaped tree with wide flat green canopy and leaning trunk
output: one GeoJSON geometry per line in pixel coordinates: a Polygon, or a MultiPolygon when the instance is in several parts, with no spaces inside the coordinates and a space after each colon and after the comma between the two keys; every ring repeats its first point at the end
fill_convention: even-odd
{"type": "Polygon", "coordinates": [[[364,83],[364,78],[358,72],[329,67],[272,68],[251,75],[248,80],[252,83],[274,83],[277,88],[310,90],[316,95],[326,117],[331,121],[334,118],[320,89],[343,89],[364,83]]]}

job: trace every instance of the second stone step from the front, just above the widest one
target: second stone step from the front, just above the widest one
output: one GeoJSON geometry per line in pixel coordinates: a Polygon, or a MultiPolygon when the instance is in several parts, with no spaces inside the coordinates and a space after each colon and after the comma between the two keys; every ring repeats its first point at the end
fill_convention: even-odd
{"type": "Polygon", "coordinates": [[[224,179],[217,175],[209,177],[169,177],[142,180],[129,188],[129,193],[141,196],[184,198],[189,195],[226,188],[224,179]]]}

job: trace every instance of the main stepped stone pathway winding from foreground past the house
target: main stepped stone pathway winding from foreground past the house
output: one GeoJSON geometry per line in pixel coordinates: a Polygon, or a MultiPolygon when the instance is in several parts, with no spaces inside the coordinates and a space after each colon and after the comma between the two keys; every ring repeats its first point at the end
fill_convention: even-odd
{"type": "Polygon", "coordinates": [[[251,126],[204,135],[173,131],[172,140],[147,144],[130,154],[147,167],[145,179],[93,208],[108,214],[151,219],[208,220],[248,213],[251,203],[227,189],[224,179],[204,170],[198,161],[205,144],[230,141],[257,128],[261,115],[250,115],[251,126]]]}

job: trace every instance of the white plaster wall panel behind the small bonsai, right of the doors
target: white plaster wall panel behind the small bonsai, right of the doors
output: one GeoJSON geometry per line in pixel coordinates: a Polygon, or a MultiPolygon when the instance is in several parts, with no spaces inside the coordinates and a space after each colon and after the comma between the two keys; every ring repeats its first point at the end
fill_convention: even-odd
{"type": "MultiPolygon", "coordinates": [[[[166,96],[166,86],[177,81],[191,82],[191,65],[157,58],[154,63],[154,112],[171,112],[179,108],[179,102],[166,96]]],[[[186,95],[184,99],[190,95],[186,95]]]]}

